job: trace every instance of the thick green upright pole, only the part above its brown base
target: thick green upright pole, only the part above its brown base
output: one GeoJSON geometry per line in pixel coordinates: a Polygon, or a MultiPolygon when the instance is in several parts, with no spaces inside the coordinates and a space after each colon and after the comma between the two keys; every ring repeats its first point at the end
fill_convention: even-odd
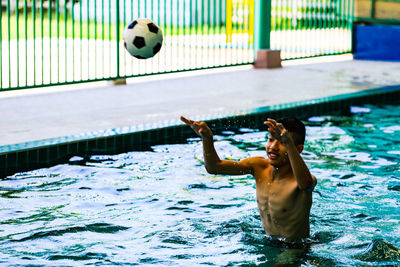
{"type": "Polygon", "coordinates": [[[271,0],[255,0],[254,44],[256,49],[271,48],[271,0]]]}

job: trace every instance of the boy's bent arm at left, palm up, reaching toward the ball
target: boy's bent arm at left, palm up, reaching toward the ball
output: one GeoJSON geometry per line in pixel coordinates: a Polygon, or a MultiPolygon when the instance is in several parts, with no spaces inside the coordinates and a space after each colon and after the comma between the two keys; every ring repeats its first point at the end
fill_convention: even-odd
{"type": "Polygon", "coordinates": [[[181,121],[190,126],[203,141],[204,164],[212,174],[241,175],[252,174],[250,159],[241,161],[221,160],[214,147],[213,133],[204,121],[192,121],[181,116],[181,121]]]}

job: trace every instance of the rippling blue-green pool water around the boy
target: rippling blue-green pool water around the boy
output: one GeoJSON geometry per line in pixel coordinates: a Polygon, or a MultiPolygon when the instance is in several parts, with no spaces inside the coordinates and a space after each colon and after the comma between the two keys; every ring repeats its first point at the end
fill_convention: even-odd
{"type": "MultiPolygon", "coordinates": [[[[1,179],[0,264],[400,265],[400,106],[352,112],[306,122],[308,249],[265,236],[252,176],[207,174],[194,138],[1,179]]],[[[221,132],[216,147],[265,156],[266,134],[221,132]]]]}

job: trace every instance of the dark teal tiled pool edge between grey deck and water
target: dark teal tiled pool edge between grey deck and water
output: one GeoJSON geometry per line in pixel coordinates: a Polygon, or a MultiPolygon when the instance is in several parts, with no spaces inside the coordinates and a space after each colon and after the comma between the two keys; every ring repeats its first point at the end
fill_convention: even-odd
{"type": "MultiPolygon", "coordinates": [[[[204,114],[194,119],[207,121],[214,130],[233,128],[232,125],[235,128],[260,128],[267,116],[304,119],[326,113],[343,114],[354,105],[398,104],[399,96],[400,85],[391,85],[259,108],[204,114]]],[[[145,150],[156,144],[185,142],[192,136],[193,131],[176,119],[0,146],[0,179],[16,172],[65,163],[72,156],[145,150]]]]}

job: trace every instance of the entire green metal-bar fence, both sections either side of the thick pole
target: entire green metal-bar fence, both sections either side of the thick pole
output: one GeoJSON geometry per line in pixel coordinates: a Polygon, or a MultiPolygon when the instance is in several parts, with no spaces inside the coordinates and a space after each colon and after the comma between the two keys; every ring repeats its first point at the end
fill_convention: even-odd
{"type": "MultiPolygon", "coordinates": [[[[353,0],[273,0],[271,48],[282,58],[349,52],[353,0]]],[[[254,62],[254,0],[1,0],[1,90],[113,80],[254,62]],[[125,25],[147,17],[163,47],[124,49],[125,25]]]]}

